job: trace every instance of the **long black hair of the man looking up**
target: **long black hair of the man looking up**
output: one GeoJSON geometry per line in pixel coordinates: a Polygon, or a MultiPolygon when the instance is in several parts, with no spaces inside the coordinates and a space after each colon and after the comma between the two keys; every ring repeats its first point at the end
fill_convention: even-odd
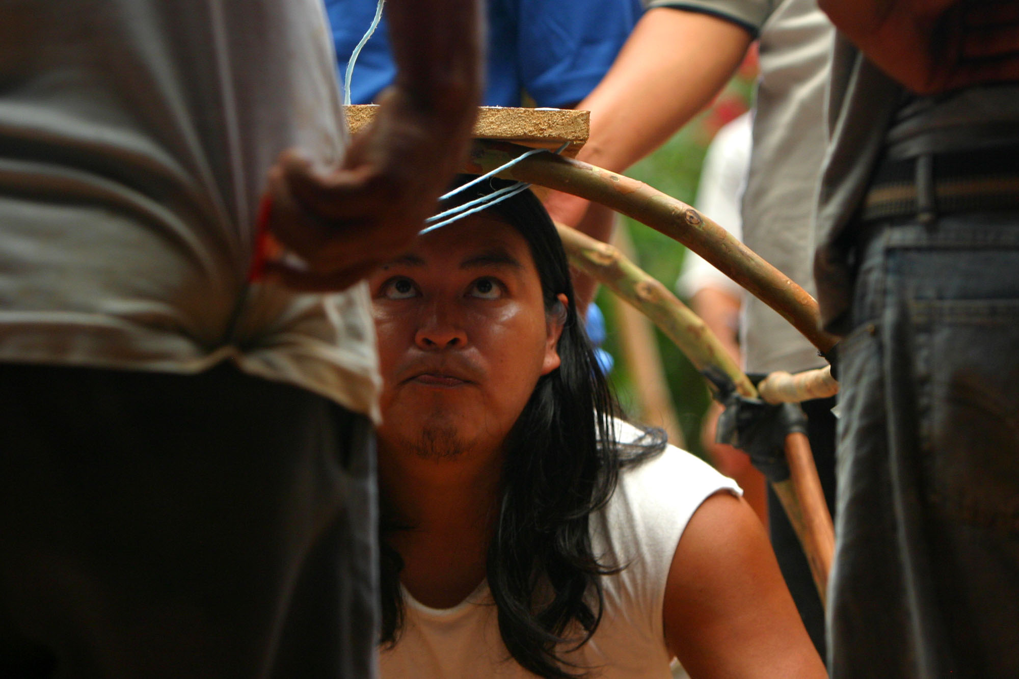
{"type": "MultiPolygon", "coordinates": [[[[455,186],[474,177],[462,175],[455,186]]],[[[486,179],[443,209],[511,186],[486,179]]],[[[514,660],[549,679],[582,676],[560,652],[583,645],[601,620],[600,578],[625,565],[603,564],[591,551],[588,518],[605,505],[622,468],[665,446],[657,429],[633,443],[616,441],[619,408],[577,315],[566,252],[548,213],[530,191],[487,208],[527,241],[541,280],[545,313],[565,317],[556,349],[560,365],[542,376],[509,433],[502,497],[488,547],[488,588],[499,633],[514,660]],[[558,295],[567,296],[564,305],[558,295]]],[[[383,509],[382,643],[396,642],[403,626],[403,561],[386,543],[400,527],[383,509]]]]}

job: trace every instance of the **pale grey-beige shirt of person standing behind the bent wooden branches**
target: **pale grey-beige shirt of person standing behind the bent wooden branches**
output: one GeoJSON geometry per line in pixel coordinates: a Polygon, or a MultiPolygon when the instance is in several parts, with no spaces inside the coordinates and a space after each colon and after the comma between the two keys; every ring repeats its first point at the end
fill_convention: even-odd
{"type": "MultiPolygon", "coordinates": [[[[814,206],[827,146],[832,22],[817,0],[651,0],[650,6],[718,16],[759,38],[743,242],[813,294],[814,206]]],[[[741,322],[748,371],[796,372],[824,365],[799,330],[753,295],[744,298],[741,322]]]]}

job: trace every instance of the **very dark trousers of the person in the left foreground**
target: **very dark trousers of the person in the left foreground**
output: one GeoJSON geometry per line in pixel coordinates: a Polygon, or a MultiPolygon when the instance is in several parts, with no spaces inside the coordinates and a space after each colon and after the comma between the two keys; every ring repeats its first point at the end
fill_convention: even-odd
{"type": "Polygon", "coordinates": [[[227,365],[0,365],[0,676],[374,676],[372,436],[227,365]]]}

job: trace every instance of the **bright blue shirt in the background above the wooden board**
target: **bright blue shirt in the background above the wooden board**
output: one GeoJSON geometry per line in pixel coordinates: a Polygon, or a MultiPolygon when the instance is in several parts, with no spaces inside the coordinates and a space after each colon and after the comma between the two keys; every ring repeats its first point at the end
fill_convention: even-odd
{"type": "MultiPolygon", "coordinates": [[[[342,82],[346,62],[375,16],[376,0],[325,0],[342,82]]],[[[643,11],[640,0],[488,0],[484,103],[566,108],[601,81],[643,11]]],[[[351,101],[368,104],[396,69],[385,16],[354,67],[351,101]]]]}

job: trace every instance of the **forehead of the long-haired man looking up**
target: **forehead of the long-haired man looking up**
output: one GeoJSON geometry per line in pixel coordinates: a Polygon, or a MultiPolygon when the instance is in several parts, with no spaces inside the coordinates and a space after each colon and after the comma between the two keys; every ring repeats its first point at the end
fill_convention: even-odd
{"type": "Polygon", "coordinates": [[[418,238],[407,255],[388,262],[385,268],[400,264],[457,268],[492,266],[537,275],[531,249],[524,237],[498,216],[485,212],[418,238]]]}

